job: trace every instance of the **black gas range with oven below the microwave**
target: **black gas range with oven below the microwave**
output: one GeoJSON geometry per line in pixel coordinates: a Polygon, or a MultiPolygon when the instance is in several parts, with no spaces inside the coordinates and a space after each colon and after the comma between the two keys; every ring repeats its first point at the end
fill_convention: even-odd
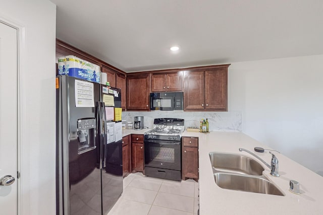
{"type": "Polygon", "coordinates": [[[145,175],[182,180],[181,134],[184,119],[157,118],[144,134],[145,175]]]}

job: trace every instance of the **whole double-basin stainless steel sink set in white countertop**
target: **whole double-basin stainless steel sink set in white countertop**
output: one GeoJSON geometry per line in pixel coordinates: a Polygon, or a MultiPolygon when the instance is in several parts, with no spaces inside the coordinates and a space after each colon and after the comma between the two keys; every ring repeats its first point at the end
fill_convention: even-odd
{"type": "Polygon", "coordinates": [[[224,189],[281,195],[284,193],[262,172],[263,167],[252,158],[240,154],[209,153],[216,184],[224,189]]]}

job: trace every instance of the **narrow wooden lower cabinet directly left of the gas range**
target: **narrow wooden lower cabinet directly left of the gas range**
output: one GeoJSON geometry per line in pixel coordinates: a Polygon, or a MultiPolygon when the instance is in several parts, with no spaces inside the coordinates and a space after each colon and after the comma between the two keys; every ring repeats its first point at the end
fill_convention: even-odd
{"type": "Polygon", "coordinates": [[[143,134],[131,134],[131,172],[143,172],[143,134]]]}

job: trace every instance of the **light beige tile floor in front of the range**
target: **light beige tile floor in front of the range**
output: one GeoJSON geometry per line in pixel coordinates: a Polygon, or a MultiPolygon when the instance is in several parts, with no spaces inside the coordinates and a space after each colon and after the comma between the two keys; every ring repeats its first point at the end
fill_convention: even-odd
{"type": "Polygon", "coordinates": [[[198,183],[170,181],[132,173],[108,215],[196,215],[198,183]]]}

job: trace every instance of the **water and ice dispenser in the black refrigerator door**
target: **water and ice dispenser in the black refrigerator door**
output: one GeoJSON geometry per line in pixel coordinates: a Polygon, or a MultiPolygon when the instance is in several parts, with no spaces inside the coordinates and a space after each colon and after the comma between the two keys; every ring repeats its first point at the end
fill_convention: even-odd
{"type": "Polygon", "coordinates": [[[77,136],[79,140],[78,154],[91,151],[95,146],[95,118],[77,120],[77,136]]]}

